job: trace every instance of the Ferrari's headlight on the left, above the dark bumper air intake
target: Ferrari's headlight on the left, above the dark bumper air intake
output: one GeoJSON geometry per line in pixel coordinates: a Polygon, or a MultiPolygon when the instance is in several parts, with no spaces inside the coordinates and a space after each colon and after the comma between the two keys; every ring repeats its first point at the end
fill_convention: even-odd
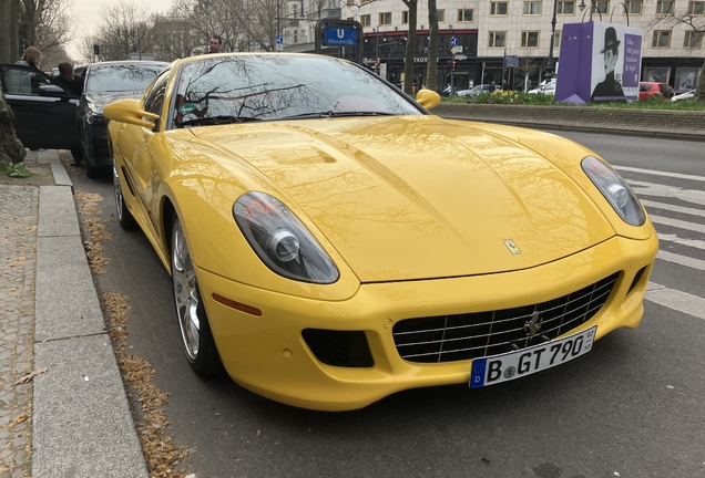
{"type": "Polygon", "coordinates": [[[279,276],[315,283],[340,277],[314,236],[274,197],[247,193],[233,205],[233,216],[259,259],[279,276]]]}

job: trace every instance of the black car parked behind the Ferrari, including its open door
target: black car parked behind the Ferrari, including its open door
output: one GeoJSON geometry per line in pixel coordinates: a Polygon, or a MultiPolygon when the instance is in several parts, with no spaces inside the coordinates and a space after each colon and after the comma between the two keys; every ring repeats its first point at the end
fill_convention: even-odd
{"type": "Polygon", "coordinates": [[[103,107],[122,97],[139,98],[166,62],[121,61],[93,63],[83,72],[81,97],[64,90],[50,74],[24,65],[1,64],[0,81],[14,113],[14,131],[31,149],[81,147],[85,174],[96,177],[111,165],[108,122],[103,107]]]}

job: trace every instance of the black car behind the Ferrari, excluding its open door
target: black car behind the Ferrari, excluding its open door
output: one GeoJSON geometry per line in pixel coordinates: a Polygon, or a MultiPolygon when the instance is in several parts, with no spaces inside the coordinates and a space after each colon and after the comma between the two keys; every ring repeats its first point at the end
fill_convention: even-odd
{"type": "Polygon", "coordinates": [[[88,66],[79,107],[79,134],[88,177],[95,177],[112,165],[103,107],[115,100],[142,97],[152,80],[167,65],[157,61],[119,61],[88,66]]]}

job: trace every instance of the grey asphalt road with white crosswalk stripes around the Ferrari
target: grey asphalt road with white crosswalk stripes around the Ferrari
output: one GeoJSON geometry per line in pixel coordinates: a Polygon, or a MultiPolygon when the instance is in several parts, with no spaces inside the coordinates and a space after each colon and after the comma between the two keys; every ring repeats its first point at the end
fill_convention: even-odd
{"type": "MultiPolygon", "coordinates": [[[[131,352],[171,394],[175,443],[206,477],[705,476],[705,156],[703,144],[561,133],[606,157],[647,202],[662,236],[636,330],[525,380],[396,394],[365,409],[280,405],[229,378],[195,376],[180,345],[171,280],[140,232],[123,232],[110,178],[73,176],[98,193],[113,238],[99,294],[129,297],[131,352]],[[662,291],[667,293],[660,293],[662,291]],[[699,310],[699,315],[698,315],[699,310]]],[[[646,204],[646,202],[645,202],[646,204]]]]}

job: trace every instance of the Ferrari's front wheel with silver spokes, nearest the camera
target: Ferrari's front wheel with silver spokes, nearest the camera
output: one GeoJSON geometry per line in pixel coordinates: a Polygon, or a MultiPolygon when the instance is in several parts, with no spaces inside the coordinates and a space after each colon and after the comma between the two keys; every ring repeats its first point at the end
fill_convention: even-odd
{"type": "Polygon", "coordinates": [[[172,221],[171,262],[174,305],[186,360],[197,375],[222,373],[223,363],[201,300],[186,236],[176,216],[172,221]]]}

